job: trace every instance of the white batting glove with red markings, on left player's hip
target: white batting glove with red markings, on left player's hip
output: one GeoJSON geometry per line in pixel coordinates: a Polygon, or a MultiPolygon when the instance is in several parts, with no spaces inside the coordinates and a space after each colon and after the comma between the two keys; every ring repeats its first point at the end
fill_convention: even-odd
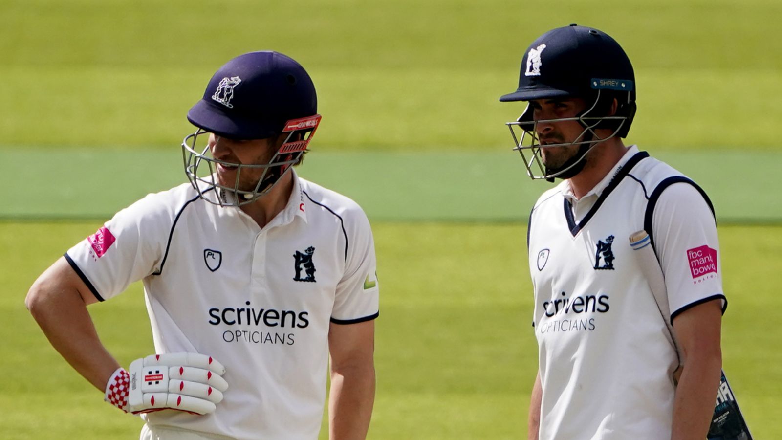
{"type": "Polygon", "coordinates": [[[177,409],[203,416],[223,400],[225,367],[199,353],[149,355],[119,368],[106,384],[104,400],[126,413],[177,409]]]}

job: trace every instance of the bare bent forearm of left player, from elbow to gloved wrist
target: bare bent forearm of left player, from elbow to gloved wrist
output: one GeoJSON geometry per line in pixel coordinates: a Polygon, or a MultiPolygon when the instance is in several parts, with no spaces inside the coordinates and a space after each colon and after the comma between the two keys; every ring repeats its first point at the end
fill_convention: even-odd
{"type": "Polygon", "coordinates": [[[26,303],[52,347],[95,388],[104,391],[119,363],[101,344],[78,292],[34,286],[26,303]]]}

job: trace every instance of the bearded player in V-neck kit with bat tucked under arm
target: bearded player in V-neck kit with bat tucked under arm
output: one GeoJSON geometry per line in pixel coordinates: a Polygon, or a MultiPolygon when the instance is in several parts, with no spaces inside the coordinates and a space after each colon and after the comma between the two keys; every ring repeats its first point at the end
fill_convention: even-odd
{"type": "Polygon", "coordinates": [[[529,176],[562,179],[529,217],[539,344],[531,439],[706,438],[726,308],[715,218],[694,182],[623,144],[635,99],[619,44],[576,25],[537,38],[518,89],[500,98],[527,102],[508,126],[529,176]],[[668,316],[633,258],[640,230],[665,276],[668,316]]]}

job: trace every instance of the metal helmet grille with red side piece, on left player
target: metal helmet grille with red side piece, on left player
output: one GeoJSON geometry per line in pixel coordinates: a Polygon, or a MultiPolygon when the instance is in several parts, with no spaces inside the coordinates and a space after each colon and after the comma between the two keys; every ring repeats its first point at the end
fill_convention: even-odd
{"type": "Polygon", "coordinates": [[[314,135],[321,116],[304,117],[288,121],[283,133],[287,133],[285,142],[274,153],[267,164],[237,164],[212,157],[208,139],[209,132],[203,129],[187,135],[182,141],[182,160],[185,166],[185,175],[188,181],[199,192],[203,200],[220,206],[239,207],[250,204],[271,191],[285,173],[289,172],[294,164],[297,164],[303,153],[307,151],[310,140],[314,135]],[[221,183],[217,179],[217,164],[236,168],[236,177],[233,184],[221,183]],[[242,173],[256,174],[260,170],[253,188],[240,188],[242,173]],[[214,195],[207,195],[210,189],[214,189],[214,195]]]}

